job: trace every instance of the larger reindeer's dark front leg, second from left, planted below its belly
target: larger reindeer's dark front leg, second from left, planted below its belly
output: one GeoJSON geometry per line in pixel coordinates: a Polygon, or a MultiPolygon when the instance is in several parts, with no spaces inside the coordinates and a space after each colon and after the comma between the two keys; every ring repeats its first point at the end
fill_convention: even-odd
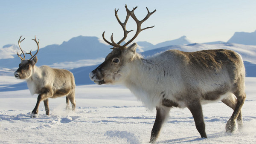
{"type": "Polygon", "coordinates": [[[190,112],[193,115],[195,121],[195,127],[200,133],[202,138],[207,138],[204,125],[204,116],[202,106],[199,100],[192,101],[188,106],[190,112]]]}

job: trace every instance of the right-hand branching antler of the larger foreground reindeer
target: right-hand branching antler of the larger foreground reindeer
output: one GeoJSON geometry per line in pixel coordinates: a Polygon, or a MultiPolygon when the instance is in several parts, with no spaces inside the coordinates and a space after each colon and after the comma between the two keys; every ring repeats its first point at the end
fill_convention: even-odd
{"type": "Polygon", "coordinates": [[[148,19],[148,17],[151,16],[151,14],[153,14],[154,12],[156,12],[157,10],[155,9],[153,12],[149,12],[148,8],[146,7],[147,11],[148,11],[148,14],[145,16],[145,18],[143,20],[138,20],[137,17],[135,16],[134,14],[134,10],[135,9],[132,9],[132,11],[130,11],[129,9],[127,9],[127,7],[125,7],[127,11],[129,11],[131,17],[134,19],[134,21],[137,23],[137,31],[134,35],[134,37],[131,38],[131,40],[129,40],[127,43],[125,43],[123,45],[123,47],[127,46],[129,43],[131,43],[138,35],[141,31],[145,30],[145,29],[149,29],[149,28],[153,28],[154,26],[150,26],[150,27],[146,27],[144,29],[141,29],[141,24],[148,19]]]}

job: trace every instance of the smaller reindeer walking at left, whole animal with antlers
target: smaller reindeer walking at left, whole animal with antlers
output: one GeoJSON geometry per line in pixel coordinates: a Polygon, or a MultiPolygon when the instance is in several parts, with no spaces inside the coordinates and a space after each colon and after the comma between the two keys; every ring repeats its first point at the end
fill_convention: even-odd
{"type": "MultiPolygon", "coordinates": [[[[22,36],[20,36],[21,38],[22,36]]],[[[25,39],[25,38],[24,38],[25,39]]],[[[23,40],[24,40],[23,39],[23,40]]],[[[18,44],[23,41],[19,39],[18,44]]],[[[38,49],[35,55],[39,51],[39,39],[35,39],[38,49]]],[[[15,78],[25,79],[29,88],[31,95],[38,94],[38,100],[31,113],[31,118],[36,118],[38,116],[38,107],[41,101],[44,101],[44,107],[46,115],[49,115],[49,104],[48,98],[58,98],[64,95],[66,96],[66,109],[70,109],[69,100],[72,104],[72,110],[76,108],[75,101],[75,78],[71,72],[65,69],[53,69],[49,66],[35,66],[38,58],[32,55],[31,51],[26,54],[30,54],[32,57],[29,60],[25,59],[25,54],[21,49],[21,54],[18,57],[21,59],[19,68],[14,73],[15,78]],[[23,54],[24,58],[21,57],[23,54]]]]}

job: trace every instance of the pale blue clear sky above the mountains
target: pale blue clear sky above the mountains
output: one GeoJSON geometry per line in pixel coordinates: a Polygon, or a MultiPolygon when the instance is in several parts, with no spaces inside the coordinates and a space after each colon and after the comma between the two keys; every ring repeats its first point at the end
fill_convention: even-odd
{"type": "MultiPolygon", "coordinates": [[[[1,0],[0,1],[0,48],[16,44],[21,35],[26,39],[24,50],[35,50],[31,39],[40,39],[40,47],[61,44],[72,37],[96,36],[110,41],[123,37],[122,27],[114,16],[123,22],[128,9],[138,6],[135,15],[142,20],[152,12],[142,28],[154,26],[140,32],[134,40],[152,44],[174,40],[185,35],[195,43],[212,41],[227,42],[235,32],[256,30],[256,0],[1,0]]],[[[128,30],[136,29],[130,17],[128,30]]],[[[135,32],[128,34],[127,41],[135,32]]]]}

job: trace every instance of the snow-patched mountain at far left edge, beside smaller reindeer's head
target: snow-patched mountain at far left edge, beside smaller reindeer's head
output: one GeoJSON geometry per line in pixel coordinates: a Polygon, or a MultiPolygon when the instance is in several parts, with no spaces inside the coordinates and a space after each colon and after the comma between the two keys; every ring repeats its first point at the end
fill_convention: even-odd
{"type": "Polygon", "coordinates": [[[14,58],[14,55],[17,56],[17,52],[21,53],[20,48],[15,44],[5,45],[0,49],[0,59],[14,58]]]}

